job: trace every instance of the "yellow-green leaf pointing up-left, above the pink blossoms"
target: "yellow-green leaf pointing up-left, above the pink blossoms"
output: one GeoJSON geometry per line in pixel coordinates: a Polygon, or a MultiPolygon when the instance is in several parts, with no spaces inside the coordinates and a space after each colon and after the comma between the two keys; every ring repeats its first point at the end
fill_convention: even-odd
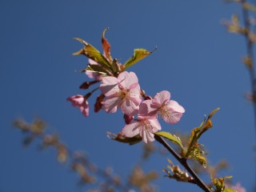
{"type": "Polygon", "coordinates": [[[87,58],[90,58],[95,62],[98,62],[98,64],[105,66],[107,69],[111,69],[110,62],[108,62],[107,59],[96,48],[94,48],[94,46],[90,45],[88,42],[85,42],[81,38],[74,39],[78,40],[79,42],[82,42],[84,48],[74,53],[73,55],[84,54],[87,58]]]}

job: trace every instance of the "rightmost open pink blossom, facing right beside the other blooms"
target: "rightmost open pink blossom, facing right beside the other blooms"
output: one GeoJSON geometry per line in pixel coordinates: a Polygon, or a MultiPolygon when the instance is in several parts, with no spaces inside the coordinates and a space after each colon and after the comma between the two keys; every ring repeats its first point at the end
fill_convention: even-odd
{"type": "Polygon", "coordinates": [[[169,124],[178,122],[185,112],[184,108],[178,102],[170,100],[170,92],[167,90],[162,90],[156,94],[151,102],[143,103],[142,109],[141,115],[152,116],[158,114],[169,124]]]}

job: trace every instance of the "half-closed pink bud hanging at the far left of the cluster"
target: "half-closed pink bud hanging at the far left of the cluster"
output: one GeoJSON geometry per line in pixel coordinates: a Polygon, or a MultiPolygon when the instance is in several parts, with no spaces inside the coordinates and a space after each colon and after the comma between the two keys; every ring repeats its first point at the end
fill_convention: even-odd
{"type": "Polygon", "coordinates": [[[71,102],[72,106],[78,107],[85,117],[89,116],[89,102],[81,94],[71,96],[66,100],[71,102]]]}

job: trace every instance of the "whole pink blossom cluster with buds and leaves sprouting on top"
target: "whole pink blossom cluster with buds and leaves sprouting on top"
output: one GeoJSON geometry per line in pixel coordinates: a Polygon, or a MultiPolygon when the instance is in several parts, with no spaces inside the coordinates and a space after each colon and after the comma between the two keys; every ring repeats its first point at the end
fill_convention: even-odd
{"type": "Polygon", "coordinates": [[[117,59],[110,56],[110,44],[102,35],[103,54],[100,54],[88,42],[76,38],[84,44],[84,48],[75,54],[84,54],[89,58],[89,64],[85,70],[89,78],[94,78],[92,82],[84,82],[81,89],[88,89],[91,85],[101,82],[98,88],[89,94],[80,94],[67,98],[73,106],[78,107],[84,116],[89,115],[89,102],[87,99],[95,90],[101,90],[94,105],[94,111],[105,110],[107,113],[115,113],[118,109],[124,114],[126,126],[121,134],[126,138],[133,138],[138,134],[143,142],[153,142],[154,133],[161,130],[158,117],[169,124],[174,124],[182,118],[184,108],[170,100],[170,92],[163,90],[156,94],[154,98],[146,96],[138,84],[138,78],[134,72],[127,72],[126,69],[140,59],[151,54],[152,51],[144,49],[134,50],[134,56],[128,59],[125,64],[118,63],[117,59]],[[137,116],[137,117],[136,117],[137,116]]]}

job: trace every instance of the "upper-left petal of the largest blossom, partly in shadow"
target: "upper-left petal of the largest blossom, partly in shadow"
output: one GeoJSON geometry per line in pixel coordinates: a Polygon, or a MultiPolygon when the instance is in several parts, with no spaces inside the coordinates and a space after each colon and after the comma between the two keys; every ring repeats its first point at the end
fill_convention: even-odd
{"type": "Polygon", "coordinates": [[[116,94],[119,91],[118,79],[114,77],[102,78],[102,84],[99,86],[102,94],[109,97],[110,95],[116,94]]]}

